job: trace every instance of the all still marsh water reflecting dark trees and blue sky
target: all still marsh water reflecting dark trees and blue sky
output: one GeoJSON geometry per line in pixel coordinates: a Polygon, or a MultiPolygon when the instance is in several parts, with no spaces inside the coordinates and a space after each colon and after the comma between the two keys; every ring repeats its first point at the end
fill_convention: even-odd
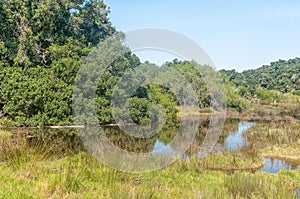
{"type": "MultiPolygon", "coordinates": [[[[223,132],[215,146],[216,151],[225,150],[228,152],[238,151],[240,147],[247,146],[249,142],[244,137],[245,131],[256,125],[256,122],[245,122],[230,120],[225,122],[223,132]]],[[[176,155],[176,147],[172,140],[176,136],[177,126],[167,126],[161,130],[162,133],[150,138],[136,138],[123,133],[117,126],[103,127],[105,135],[114,145],[130,152],[151,153],[153,155],[176,155]],[[175,149],[174,149],[175,147],[175,149]]],[[[195,136],[191,147],[182,155],[184,159],[197,156],[201,152],[201,144],[209,132],[208,123],[199,126],[199,133],[195,136]]],[[[57,153],[72,153],[84,150],[84,146],[75,129],[38,129],[31,133],[38,135],[40,140],[46,140],[49,145],[55,144],[57,153]]],[[[36,136],[34,136],[36,137],[36,136]]],[[[34,142],[34,139],[30,140],[34,142]]],[[[281,169],[300,169],[300,165],[291,165],[283,160],[264,158],[265,165],[260,169],[262,172],[277,173],[281,169]]]]}

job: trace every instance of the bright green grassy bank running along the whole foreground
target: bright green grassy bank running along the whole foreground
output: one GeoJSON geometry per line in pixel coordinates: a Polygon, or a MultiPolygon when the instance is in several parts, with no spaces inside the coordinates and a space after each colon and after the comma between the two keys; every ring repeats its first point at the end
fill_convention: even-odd
{"type": "MultiPolygon", "coordinates": [[[[294,190],[300,187],[299,170],[228,174],[192,158],[155,172],[130,174],[106,167],[84,151],[56,154],[48,147],[2,139],[0,198],[297,198],[294,190]]],[[[238,166],[251,161],[236,157],[238,166]]],[[[232,158],[218,162],[208,156],[204,161],[217,165],[227,159],[227,164],[232,158]]]]}

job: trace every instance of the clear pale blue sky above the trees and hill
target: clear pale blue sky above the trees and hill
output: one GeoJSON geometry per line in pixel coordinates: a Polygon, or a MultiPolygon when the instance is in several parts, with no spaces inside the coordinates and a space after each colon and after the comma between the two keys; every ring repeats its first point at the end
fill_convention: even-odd
{"type": "MultiPolygon", "coordinates": [[[[299,0],[104,0],[119,31],[163,28],[198,43],[217,69],[254,69],[300,57],[299,0]]],[[[174,55],[134,52],[158,64],[174,55]]]]}

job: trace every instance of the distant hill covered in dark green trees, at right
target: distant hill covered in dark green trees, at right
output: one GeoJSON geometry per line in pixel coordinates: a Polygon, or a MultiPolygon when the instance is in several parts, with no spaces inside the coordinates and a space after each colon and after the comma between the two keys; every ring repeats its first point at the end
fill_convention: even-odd
{"type": "Polygon", "coordinates": [[[249,90],[265,88],[300,95],[300,58],[271,62],[270,65],[241,73],[235,70],[221,72],[236,86],[244,86],[249,90]]]}

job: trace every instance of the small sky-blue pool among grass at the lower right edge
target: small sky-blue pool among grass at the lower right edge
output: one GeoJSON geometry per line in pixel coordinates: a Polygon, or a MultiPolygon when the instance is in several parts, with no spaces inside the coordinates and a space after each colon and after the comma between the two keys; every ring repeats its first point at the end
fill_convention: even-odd
{"type": "Polygon", "coordinates": [[[260,169],[260,171],[267,173],[278,173],[281,169],[285,170],[296,170],[300,169],[300,165],[292,165],[283,160],[264,158],[265,165],[260,169]]]}

